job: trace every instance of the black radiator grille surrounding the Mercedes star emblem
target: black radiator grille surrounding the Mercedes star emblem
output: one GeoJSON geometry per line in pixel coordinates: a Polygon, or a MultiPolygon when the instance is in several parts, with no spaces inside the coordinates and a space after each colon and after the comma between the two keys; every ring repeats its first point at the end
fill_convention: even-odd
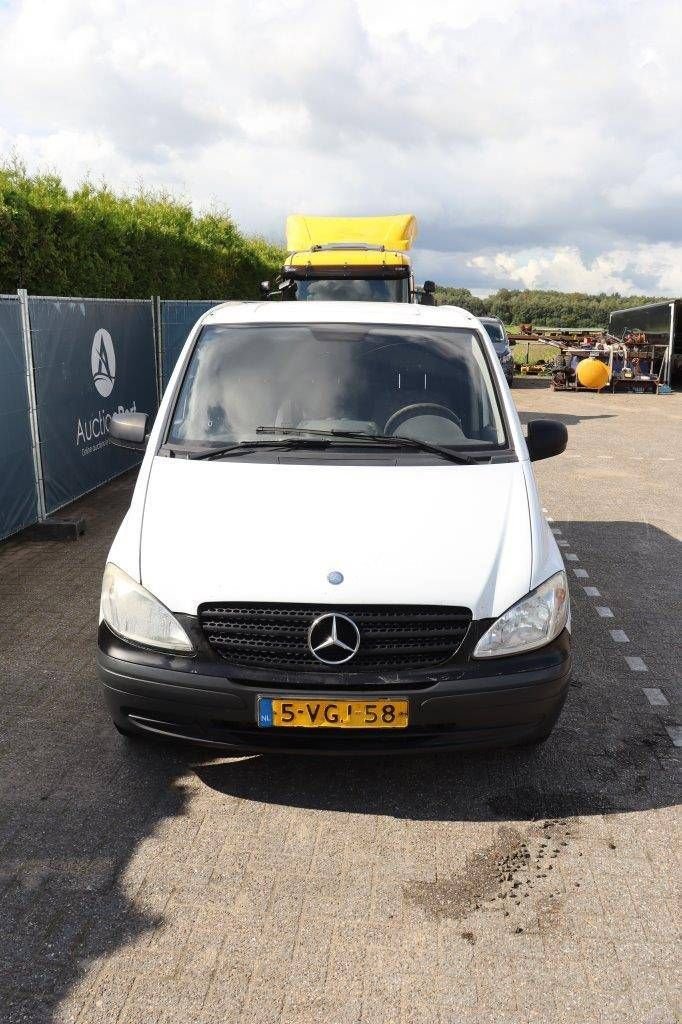
{"type": "Polygon", "coordinates": [[[202,604],[199,621],[213,650],[230,665],[299,672],[429,669],[456,653],[471,622],[468,608],[409,604],[202,604]],[[360,646],[343,666],[310,653],[308,630],[338,612],[357,626],[360,646]]]}

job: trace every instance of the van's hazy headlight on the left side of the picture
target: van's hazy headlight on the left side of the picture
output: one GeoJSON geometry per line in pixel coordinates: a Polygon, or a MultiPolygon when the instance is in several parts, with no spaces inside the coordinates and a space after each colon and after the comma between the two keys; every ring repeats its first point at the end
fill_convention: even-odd
{"type": "Polygon", "coordinates": [[[113,562],[106,563],[101,584],[102,620],[118,636],[143,647],[182,654],[194,651],[189,637],[168,608],[113,562]]]}

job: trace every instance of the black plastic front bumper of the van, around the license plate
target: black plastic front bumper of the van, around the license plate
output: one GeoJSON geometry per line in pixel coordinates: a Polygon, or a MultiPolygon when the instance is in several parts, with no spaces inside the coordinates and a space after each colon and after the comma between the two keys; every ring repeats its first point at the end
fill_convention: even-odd
{"type": "Polygon", "coordinates": [[[236,680],[228,667],[169,658],[99,632],[97,667],[114,721],[127,731],[190,740],[225,751],[386,754],[503,746],[547,735],[570,677],[566,631],[527,654],[467,662],[419,680],[397,678],[375,688],[302,688],[262,679],[236,680]],[[204,671],[202,671],[204,670],[204,671]],[[396,730],[261,729],[259,696],[326,700],[410,700],[410,725],[396,730]]]}

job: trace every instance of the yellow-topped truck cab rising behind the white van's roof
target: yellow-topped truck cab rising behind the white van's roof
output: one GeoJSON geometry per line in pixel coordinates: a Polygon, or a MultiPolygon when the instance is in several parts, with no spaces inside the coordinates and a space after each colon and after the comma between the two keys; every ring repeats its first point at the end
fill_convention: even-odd
{"type": "Polygon", "coordinates": [[[287,259],[269,298],[296,301],[414,302],[410,257],[417,219],[391,217],[287,218],[287,259]]]}

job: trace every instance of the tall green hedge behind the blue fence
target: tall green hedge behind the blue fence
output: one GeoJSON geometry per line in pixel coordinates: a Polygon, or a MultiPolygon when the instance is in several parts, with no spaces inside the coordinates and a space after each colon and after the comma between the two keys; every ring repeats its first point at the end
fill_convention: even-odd
{"type": "Polygon", "coordinates": [[[283,252],[225,214],[163,194],[69,191],[54,174],[0,166],[0,292],[174,299],[257,298],[283,252]]]}

